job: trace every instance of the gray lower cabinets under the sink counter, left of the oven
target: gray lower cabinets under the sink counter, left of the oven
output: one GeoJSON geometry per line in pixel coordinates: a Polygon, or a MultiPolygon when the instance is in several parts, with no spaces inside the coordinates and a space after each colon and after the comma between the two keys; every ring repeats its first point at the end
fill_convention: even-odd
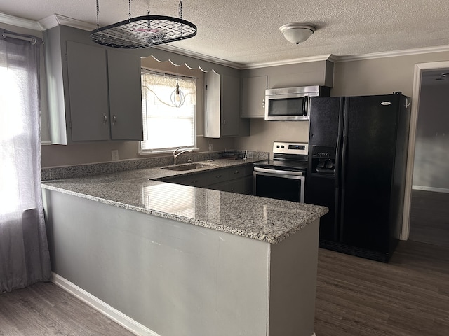
{"type": "Polygon", "coordinates": [[[230,191],[232,193],[253,194],[253,165],[214,169],[210,172],[196,173],[185,177],[162,179],[164,182],[230,191]]]}

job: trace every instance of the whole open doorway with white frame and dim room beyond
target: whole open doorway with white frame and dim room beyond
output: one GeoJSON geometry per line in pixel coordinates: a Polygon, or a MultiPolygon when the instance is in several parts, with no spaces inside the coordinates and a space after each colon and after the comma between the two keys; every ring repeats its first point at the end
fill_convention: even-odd
{"type": "Polygon", "coordinates": [[[402,239],[449,247],[449,62],[416,64],[413,103],[402,239]]]}

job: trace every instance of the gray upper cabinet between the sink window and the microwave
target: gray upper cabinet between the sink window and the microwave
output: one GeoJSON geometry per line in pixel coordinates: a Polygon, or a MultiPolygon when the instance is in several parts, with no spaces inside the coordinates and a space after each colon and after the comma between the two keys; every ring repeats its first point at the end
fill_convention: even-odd
{"type": "Polygon", "coordinates": [[[240,78],[205,73],[204,137],[249,135],[249,124],[240,118],[240,78]]]}

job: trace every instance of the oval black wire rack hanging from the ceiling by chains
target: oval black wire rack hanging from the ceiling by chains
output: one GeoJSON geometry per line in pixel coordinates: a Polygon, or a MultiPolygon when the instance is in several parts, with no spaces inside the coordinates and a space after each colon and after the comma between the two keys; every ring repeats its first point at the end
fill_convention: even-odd
{"type": "Polygon", "coordinates": [[[131,18],[131,0],[129,18],[121,22],[100,28],[97,0],[97,29],[91,31],[91,40],[112,48],[140,49],[169,42],[181,41],[196,35],[196,25],[182,19],[182,0],[178,11],[179,18],[162,15],[144,15],[131,18]]]}

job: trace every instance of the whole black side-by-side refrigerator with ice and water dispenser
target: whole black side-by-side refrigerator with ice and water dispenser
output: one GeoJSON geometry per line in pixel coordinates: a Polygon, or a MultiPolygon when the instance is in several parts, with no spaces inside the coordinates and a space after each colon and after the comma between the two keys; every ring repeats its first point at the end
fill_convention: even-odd
{"type": "Polygon", "coordinates": [[[410,98],[310,99],[305,202],[324,205],[319,246],[388,262],[402,228],[410,98]]]}

